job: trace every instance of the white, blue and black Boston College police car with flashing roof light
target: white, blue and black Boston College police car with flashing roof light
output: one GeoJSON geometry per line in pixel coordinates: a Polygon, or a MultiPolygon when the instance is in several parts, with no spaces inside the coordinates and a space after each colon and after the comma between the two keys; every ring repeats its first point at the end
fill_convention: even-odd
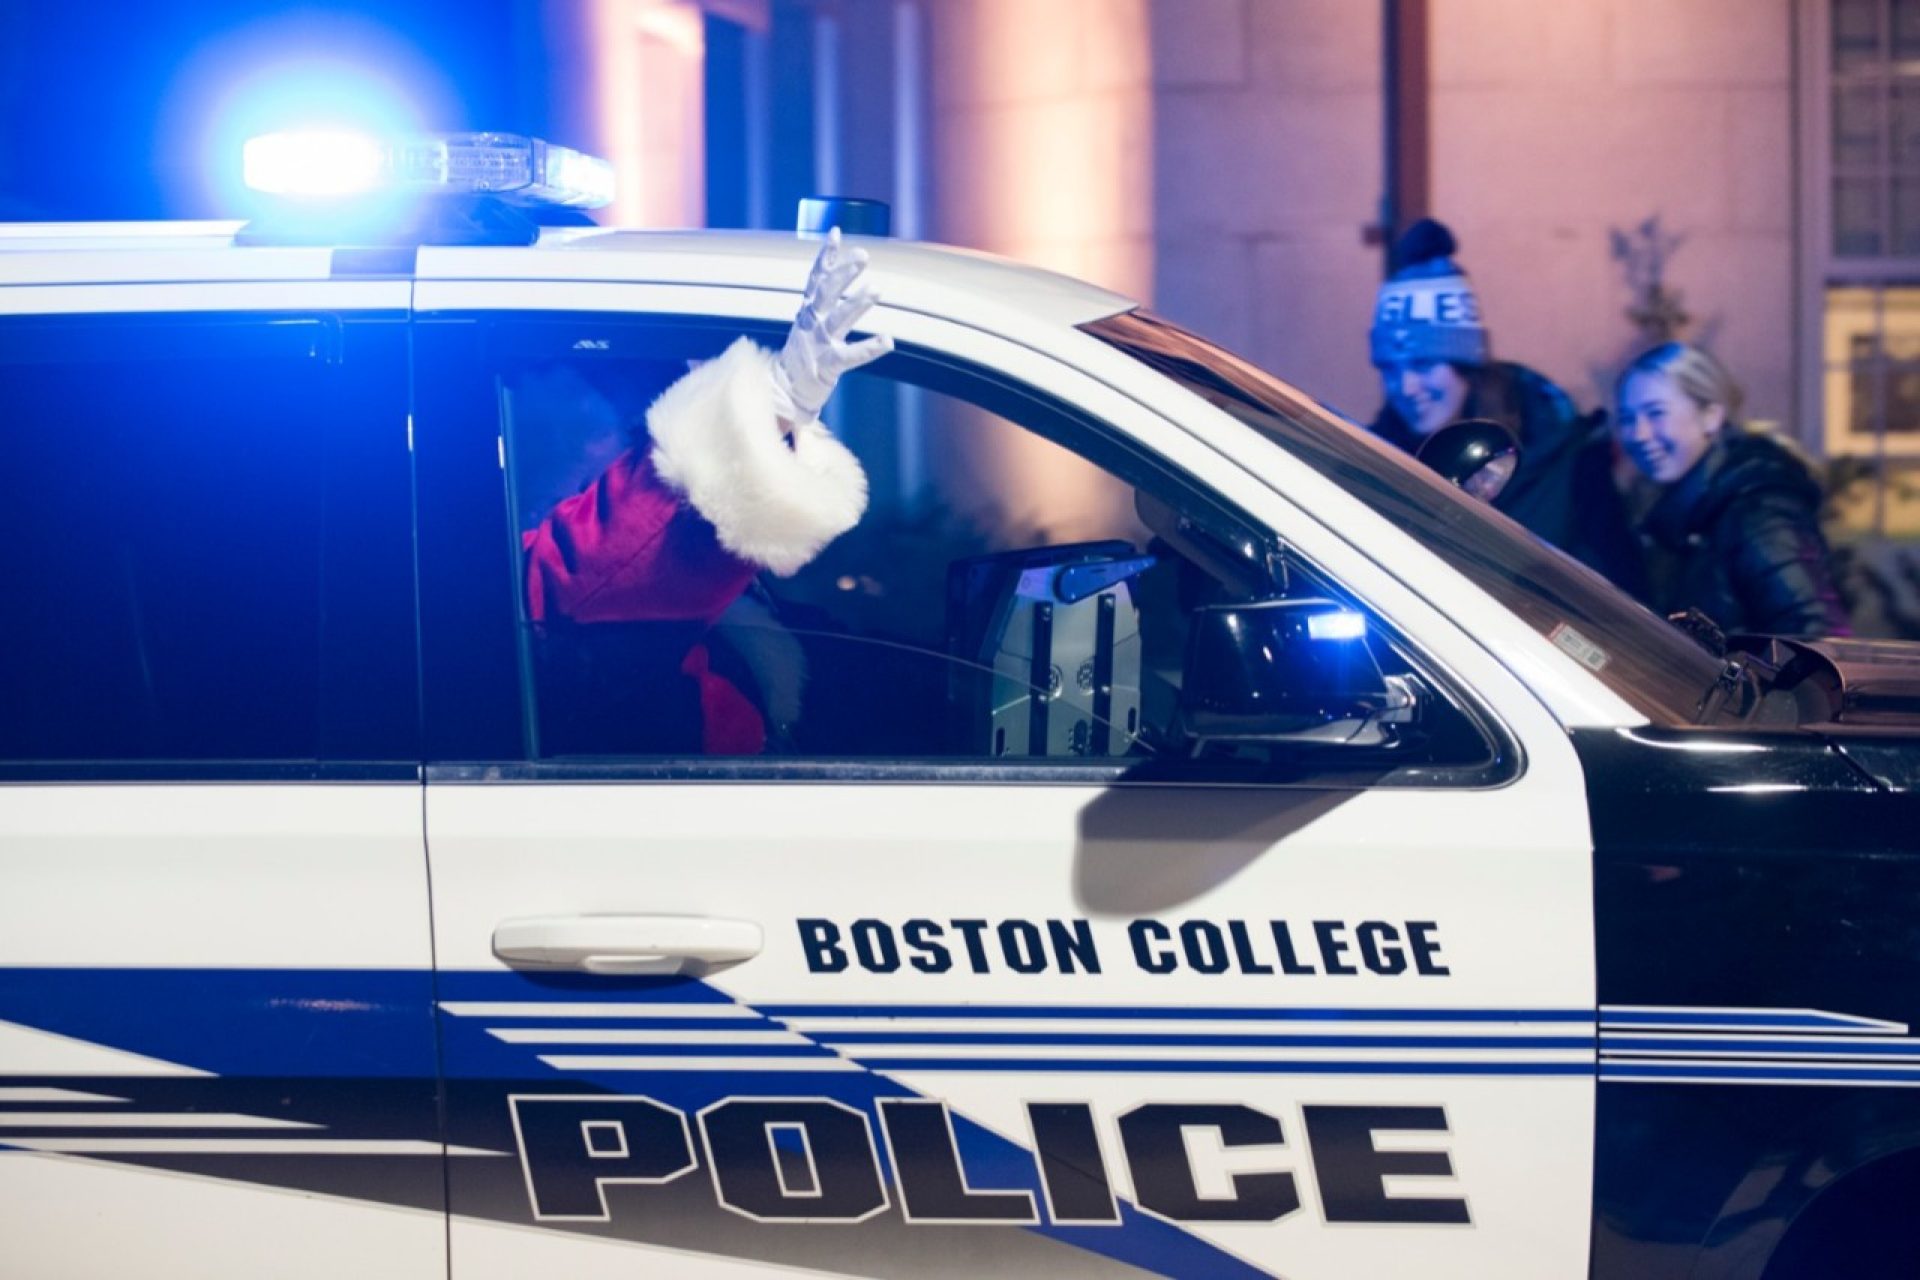
{"type": "Polygon", "coordinates": [[[0,1274],[1914,1274],[1912,651],[1709,652],[860,236],[860,522],[555,622],[543,522],[818,240],[276,146],[413,194],[0,226],[0,1274]]]}

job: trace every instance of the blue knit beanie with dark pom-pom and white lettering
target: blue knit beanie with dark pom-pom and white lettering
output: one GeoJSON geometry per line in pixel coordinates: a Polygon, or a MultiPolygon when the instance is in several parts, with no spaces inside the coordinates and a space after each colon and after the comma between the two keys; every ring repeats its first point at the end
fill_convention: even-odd
{"type": "Polygon", "coordinates": [[[1459,246],[1444,225],[1423,217],[1394,242],[1390,274],[1373,307],[1367,332],[1375,365],[1448,361],[1484,365],[1490,359],[1480,299],[1453,263],[1459,246]]]}

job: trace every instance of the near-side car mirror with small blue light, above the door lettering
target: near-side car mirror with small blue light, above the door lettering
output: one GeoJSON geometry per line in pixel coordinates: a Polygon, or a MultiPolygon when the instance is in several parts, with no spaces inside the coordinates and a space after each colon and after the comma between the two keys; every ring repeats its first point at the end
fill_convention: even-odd
{"type": "Polygon", "coordinates": [[[1380,745],[1415,710],[1411,681],[1375,662],[1367,616],[1338,601],[1192,612],[1181,712],[1194,739],[1380,745]]]}

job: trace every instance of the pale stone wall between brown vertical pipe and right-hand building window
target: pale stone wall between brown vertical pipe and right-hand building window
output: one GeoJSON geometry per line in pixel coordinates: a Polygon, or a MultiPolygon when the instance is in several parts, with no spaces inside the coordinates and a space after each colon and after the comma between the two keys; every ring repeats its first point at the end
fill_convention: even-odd
{"type": "Polygon", "coordinates": [[[1494,351],[1601,403],[1636,345],[1609,232],[1659,215],[1667,271],[1755,418],[1793,407],[1793,2],[1440,0],[1434,213],[1494,351]]]}

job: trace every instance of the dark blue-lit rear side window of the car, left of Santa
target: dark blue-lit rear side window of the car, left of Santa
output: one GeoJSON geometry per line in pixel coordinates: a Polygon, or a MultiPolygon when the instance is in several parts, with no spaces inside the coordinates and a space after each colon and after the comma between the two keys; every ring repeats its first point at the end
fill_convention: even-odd
{"type": "Polygon", "coordinates": [[[403,334],[0,322],[0,760],[417,758],[403,334]]]}

